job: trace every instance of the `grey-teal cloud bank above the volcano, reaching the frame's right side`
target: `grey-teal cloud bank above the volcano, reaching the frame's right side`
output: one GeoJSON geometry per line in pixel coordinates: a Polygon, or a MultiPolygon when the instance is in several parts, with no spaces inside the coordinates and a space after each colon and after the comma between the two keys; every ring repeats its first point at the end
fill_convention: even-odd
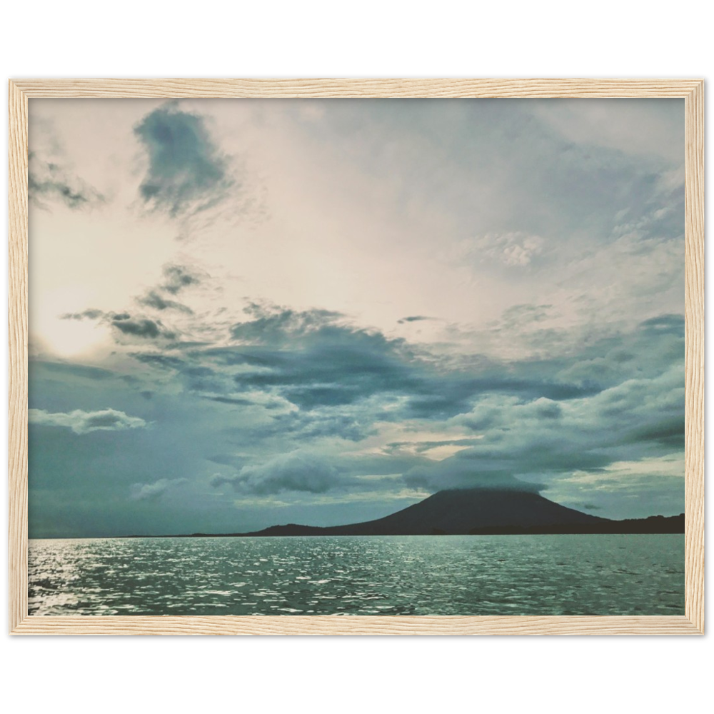
{"type": "Polygon", "coordinates": [[[490,392],[447,424],[478,439],[438,464],[408,471],[408,485],[437,490],[513,476],[552,483],[575,471],[598,473],[619,461],[683,452],[683,369],[675,364],[568,401],[490,392]]]}

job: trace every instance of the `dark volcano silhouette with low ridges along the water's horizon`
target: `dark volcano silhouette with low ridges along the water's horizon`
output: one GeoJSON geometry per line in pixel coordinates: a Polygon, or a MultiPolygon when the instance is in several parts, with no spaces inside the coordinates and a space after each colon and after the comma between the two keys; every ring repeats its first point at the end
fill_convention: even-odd
{"type": "MultiPolygon", "coordinates": [[[[466,533],[683,533],[684,516],[611,521],[513,489],[439,491],[403,511],[347,526],[271,526],[232,535],[457,535],[466,533]]],[[[198,535],[198,534],[194,534],[198,535]]]]}

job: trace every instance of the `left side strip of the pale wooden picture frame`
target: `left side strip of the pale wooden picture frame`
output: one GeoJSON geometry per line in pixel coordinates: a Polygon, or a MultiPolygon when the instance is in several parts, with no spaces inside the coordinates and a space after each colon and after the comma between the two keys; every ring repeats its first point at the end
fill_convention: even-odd
{"type": "Polygon", "coordinates": [[[7,83],[8,628],[27,615],[27,98],[7,83]]]}

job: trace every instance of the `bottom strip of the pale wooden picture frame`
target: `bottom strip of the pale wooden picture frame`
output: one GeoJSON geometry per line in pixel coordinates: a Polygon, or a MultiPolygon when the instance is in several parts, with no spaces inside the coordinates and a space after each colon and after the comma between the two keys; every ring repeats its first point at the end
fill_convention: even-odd
{"type": "Polygon", "coordinates": [[[51,617],[31,615],[13,635],[700,635],[679,617],[51,617]]]}

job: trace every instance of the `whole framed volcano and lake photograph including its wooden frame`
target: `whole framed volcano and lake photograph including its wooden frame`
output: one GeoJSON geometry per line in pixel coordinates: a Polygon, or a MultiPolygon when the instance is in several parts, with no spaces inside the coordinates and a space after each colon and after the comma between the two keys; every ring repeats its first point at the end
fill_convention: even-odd
{"type": "Polygon", "coordinates": [[[8,91],[9,633],[703,634],[703,79],[8,91]]]}

